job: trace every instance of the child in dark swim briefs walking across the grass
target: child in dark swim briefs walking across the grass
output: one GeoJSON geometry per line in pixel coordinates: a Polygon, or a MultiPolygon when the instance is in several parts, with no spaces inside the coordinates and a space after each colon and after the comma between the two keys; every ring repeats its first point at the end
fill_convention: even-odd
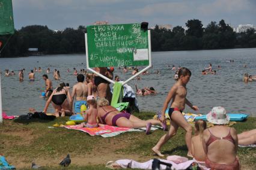
{"type": "Polygon", "coordinates": [[[169,105],[169,102],[172,99],[171,108],[169,108],[168,113],[172,121],[169,132],[166,135],[163,135],[162,138],[160,138],[159,142],[157,142],[156,146],[152,148],[153,152],[156,153],[158,156],[164,156],[163,154],[160,153],[159,150],[163,144],[165,144],[169,139],[172,138],[172,136],[176,134],[179,126],[186,130],[185,141],[188,149],[187,154],[188,156],[190,156],[192,127],[190,126],[189,123],[187,123],[187,121],[182,115],[182,111],[184,110],[185,105],[188,105],[194,111],[198,110],[197,106],[192,105],[189,102],[189,100],[186,99],[186,84],[189,82],[190,76],[191,71],[189,69],[185,67],[180,68],[180,70],[178,71],[178,81],[171,88],[171,90],[168,93],[168,96],[165,99],[165,103],[163,104],[162,109],[162,116],[159,118],[159,120],[162,123],[165,123],[165,111],[169,105]]]}

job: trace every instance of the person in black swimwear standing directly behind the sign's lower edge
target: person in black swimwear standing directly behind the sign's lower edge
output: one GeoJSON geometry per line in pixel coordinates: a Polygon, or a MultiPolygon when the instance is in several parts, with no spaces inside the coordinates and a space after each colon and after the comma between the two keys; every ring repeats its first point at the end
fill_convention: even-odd
{"type": "MultiPolygon", "coordinates": [[[[113,73],[107,67],[95,67],[94,70],[102,74],[103,76],[108,77],[109,79],[113,79],[113,73]]],[[[109,87],[109,82],[95,74],[94,84],[97,87],[98,96],[100,98],[106,98],[109,101],[109,103],[111,103],[112,93],[109,87]]]]}

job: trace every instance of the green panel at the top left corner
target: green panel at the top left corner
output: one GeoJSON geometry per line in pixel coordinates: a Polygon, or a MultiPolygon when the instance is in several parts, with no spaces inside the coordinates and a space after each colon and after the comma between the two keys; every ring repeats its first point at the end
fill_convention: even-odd
{"type": "Polygon", "coordinates": [[[11,0],[0,0],[0,34],[14,34],[11,0]]]}

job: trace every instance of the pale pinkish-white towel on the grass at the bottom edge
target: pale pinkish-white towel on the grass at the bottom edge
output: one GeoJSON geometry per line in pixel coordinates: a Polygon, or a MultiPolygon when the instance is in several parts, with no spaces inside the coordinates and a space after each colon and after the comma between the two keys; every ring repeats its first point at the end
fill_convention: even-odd
{"type": "MultiPolygon", "coordinates": [[[[172,165],[171,169],[187,169],[189,166],[194,163],[194,160],[188,160],[183,163],[176,164],[170,160],[159,159],[161,162],[170,163],[172,165]]],[[[137,169],[152,169],[153,159],[148,160],[147,162],[136,162],[132,159],[120,159],[115,161],[122,168],[137,168],[137,169]]],[[[160,169],[166,169],[166,165],[160,165],[160,169]]]]}

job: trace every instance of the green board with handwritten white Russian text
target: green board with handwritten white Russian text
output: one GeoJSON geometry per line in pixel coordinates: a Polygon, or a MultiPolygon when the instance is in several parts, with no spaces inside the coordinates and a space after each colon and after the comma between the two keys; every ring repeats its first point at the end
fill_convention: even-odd
{"type": "Polygon", "coordinates": [[[89,67],[148,65],[148,53],[140,23],[87,26],[89,67]]]}

